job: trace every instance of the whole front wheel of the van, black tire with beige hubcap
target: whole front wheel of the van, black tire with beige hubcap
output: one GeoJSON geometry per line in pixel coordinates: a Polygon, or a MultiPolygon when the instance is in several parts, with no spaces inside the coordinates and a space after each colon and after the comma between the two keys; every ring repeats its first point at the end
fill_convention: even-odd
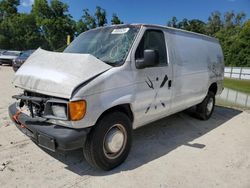
{"type": "Polygon", "coordinates": [[[130,119],[121,112],[112,112],[93,127],[84,145],[85,159],[94,167],[111,170],[128,156],[132,143],[130,119]]]}

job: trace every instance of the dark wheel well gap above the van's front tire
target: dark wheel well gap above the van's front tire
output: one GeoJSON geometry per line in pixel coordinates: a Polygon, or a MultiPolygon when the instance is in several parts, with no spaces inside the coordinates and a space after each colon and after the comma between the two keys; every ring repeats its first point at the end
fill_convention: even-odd
{"type": "Polygon", "coordinates": [[[123,112],[129,117],[131,122],[134,121],[134,115],[133,115],[133,112],[131,111],[129,104],[121,104],[121,105],[117,105],[117,106],[107,109],[106,111],[102,113],[102,115],[98,118],[98,120],[101,119],[103,116],[105,116],[107,113],[114,112],[114,111],[123,112]]]}

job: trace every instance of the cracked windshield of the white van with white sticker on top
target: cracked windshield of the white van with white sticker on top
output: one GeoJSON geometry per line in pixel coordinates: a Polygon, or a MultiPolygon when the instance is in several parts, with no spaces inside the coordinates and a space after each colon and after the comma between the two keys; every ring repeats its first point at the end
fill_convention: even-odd
{"type": "Polygon", "coordinates": [[[138,26],[104,27],[79,35],[66,53],[91,54],[112,66],[122,64],[139,31],[138,26]]]}

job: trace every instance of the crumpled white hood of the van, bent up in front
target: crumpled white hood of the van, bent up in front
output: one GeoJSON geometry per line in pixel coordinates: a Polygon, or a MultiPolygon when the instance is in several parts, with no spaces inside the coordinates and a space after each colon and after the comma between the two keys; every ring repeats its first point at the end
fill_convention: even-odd
{"type": "Polygon", "coordinates": [[[39,48],[16,72],[13,83],[25,90],[69,99],[77,86],[110,68],[90,54],[39,48]]]}

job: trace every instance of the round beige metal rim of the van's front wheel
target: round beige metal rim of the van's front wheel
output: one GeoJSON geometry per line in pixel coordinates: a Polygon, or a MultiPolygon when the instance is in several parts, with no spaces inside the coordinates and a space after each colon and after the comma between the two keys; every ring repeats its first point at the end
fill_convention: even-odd
{"type": "Polygon", "coordinates": [[[119,157],[127,143],[127,132],[123,125],[113,125],[105,134],[103,141],[103,151],[107,158],[115,159],[119,157]]]}

